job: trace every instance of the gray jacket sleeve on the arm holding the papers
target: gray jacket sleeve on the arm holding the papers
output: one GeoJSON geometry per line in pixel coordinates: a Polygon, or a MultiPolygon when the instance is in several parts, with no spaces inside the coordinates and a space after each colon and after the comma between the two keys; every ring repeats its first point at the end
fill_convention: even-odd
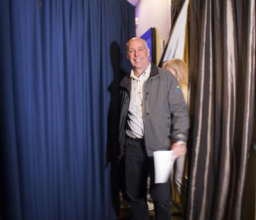
{"type": "Polygon", "coordinates": [[[189,114],[179,83],[172,74],[167,76],[168,104],[172,118],[172,142],[188,140],[189,114]]]}

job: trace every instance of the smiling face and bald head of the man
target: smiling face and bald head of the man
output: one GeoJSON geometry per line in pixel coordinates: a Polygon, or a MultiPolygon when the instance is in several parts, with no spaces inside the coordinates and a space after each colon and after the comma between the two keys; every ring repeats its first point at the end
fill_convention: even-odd
{"type": "Polygon", "coordinates": [[[141,73],[149,64],[149,49],[141,38],[132,38],[127,43],[127,59],[134,70],[141,73]]]}

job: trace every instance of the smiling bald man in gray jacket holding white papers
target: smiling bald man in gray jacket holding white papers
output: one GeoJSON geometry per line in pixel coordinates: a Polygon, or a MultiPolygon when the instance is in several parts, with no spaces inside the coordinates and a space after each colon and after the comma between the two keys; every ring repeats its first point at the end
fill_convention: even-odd
{"type": "Polygon", "coordinates": [[[170,182],[154,184],[156,150],[186,153],[189,117],[175,77],[149,61],[147,42],[131,38],[127,58],[131,74],[120,83],[120,154],[125,159],[125,192],[134,219],[149,219],[147,177],[157,220],[170,220],[170,182]]]}

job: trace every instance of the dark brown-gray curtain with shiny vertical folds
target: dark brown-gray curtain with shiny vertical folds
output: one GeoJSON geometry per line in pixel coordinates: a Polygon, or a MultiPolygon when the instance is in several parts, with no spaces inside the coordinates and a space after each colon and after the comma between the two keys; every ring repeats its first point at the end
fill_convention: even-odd
{"type": "Polygon", "coordinates": [[[255,0],[193,0],[186,219],[241,219],[255,107],[255,0]]]}

